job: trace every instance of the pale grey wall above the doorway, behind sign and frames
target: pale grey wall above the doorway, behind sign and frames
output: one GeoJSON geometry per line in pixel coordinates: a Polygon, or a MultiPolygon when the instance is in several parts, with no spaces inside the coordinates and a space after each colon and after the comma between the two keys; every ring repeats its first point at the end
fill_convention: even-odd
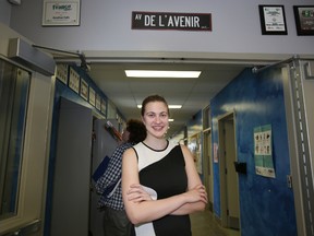
{"type": "MultiPolygon", "coordinates": [[[[172,58],[221,59],[225,56],[220,54],[227,54],[228,58],[237,60],[262,57],[265,54],[277,59],[286,59],[294,54],[314,54],[314,37],[297,35],[292,5],[301,4],[299,0],[276,1],[276,4],[285,5],[288,35],[262,35],[258,13],[258,4],[265,4],[262,0],[171,0],[165,3],[83,0],[80,26],[61,27],[41,26],[43,2],[22,0],[21,5],[12,5],[10,26],[35,44],[83,50],[87,57],[110,57],[112,54],[129,57],[142,54],[149,58],[168,55],[172,58]],[[213,31],[132,30],[132,11],[212,13],[213,31]],[[147,51],[149,54],[145,54],[147,51]]],[[[303,0],[302,4],[313,4],[313,1],[303,0]]],[[[2,11],[1,9],[1,14],[2,11]]]]}

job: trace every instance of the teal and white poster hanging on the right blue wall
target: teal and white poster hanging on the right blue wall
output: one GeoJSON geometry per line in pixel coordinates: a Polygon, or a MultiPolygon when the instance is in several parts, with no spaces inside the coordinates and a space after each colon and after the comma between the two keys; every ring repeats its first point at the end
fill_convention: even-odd
{"type": "Polygon", "coordinates": [[[275,178],[271,126],[254,128],[254,161],[256,175],[275,178]]]}

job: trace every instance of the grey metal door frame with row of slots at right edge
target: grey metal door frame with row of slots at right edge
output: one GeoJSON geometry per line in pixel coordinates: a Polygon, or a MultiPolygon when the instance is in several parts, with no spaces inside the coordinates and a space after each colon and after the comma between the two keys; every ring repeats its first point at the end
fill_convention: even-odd
{"type": "Polygon", "coordinates": [[[282,68],[298,235],[304,236],[314,235],[313,157],[309,140],[311,121],[304,104],[304,81],[314,79],[313,67],[313,60],[293,59],[282,68]]]}

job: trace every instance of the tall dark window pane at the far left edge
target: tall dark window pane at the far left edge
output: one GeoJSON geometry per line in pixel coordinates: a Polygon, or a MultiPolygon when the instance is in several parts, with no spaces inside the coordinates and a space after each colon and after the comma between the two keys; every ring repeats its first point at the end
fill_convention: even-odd
{"type": "Polygon", "coordinates": [[[0,58],[0,220],[17,214],[29,72],[0,58]]]}

